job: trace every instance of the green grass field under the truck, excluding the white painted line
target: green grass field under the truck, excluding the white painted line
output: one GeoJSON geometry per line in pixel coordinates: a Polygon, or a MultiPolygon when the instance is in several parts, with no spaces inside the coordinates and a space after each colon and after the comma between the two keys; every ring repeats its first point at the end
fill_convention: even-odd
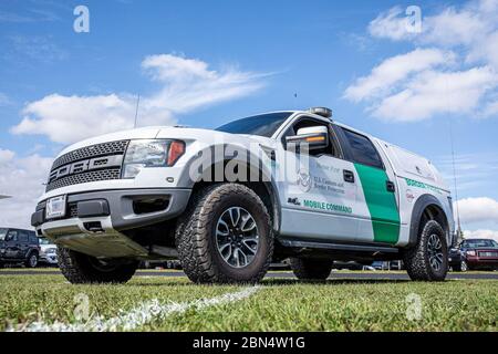
{"type": "MultiPolygon", "coordinates": [[[[77,294],[87,296],[93,316],[110,319],[153,299],[164,304],[189,303],[246,288],[195,285],[185,278],[135,277],[124,285],[71,285],[61,275],[1,275],[0,331],[35,321],[75,323],[77,294]]],[[[153,317],[135,330],[497,331],[497,320],[495,280],[300,283],[272,279],[240,301],[153,317]],[[409,294],[419,296],[418,319],[407,319],[407,309],[413,306],[409,294]]]]}

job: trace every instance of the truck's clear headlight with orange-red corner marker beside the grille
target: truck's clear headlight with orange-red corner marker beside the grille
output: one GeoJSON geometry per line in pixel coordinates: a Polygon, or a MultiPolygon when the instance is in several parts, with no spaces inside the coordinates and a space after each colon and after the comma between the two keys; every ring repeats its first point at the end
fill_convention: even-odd
{"type": "Polygon", "coordinates": [[[132,140],[123,163],[123,178],[135,178],[147,167],[173,166],[184,153],[185,143],[179,140],[132,140]]]}

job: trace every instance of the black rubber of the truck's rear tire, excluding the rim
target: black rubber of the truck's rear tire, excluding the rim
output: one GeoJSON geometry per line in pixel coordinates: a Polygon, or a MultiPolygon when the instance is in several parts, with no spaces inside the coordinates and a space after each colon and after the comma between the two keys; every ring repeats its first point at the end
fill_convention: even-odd
{"type": "Polygon", "coordinates": [[[417,244],[404,253],[406,270],[415,281],[443,281],[448,271],[448,247],[445,231],[435,220],[426,221],[421,228],[417,244]],[[432,235],[436,235],[442,242],[443,264],[439,271],[430,267],[427,242],[432,235]]]}

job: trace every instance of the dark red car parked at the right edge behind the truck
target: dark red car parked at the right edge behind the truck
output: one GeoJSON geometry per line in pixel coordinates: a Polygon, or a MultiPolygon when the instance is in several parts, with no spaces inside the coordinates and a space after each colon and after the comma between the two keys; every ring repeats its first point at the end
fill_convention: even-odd
{"type": "Polygon", "coordinates": [[[498,269],[498,243],[488,239],[470,239],[460,243],[460,252],[469,270],[498,269]]]}

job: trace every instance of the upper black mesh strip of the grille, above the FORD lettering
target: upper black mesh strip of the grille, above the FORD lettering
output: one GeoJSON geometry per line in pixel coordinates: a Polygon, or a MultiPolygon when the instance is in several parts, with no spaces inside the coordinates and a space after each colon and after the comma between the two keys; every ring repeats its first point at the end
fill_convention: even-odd
{"type": "Polygon", "coordinates": [[[129,140],[120,140],[103,143],[92,146],[79,148],[74,152],[68,153],[59,157],[52,165],[52,169],[59,168],[66,164],[71,164],[81,159],[106,156],[106,155],[124,155],[129,140]]]}

